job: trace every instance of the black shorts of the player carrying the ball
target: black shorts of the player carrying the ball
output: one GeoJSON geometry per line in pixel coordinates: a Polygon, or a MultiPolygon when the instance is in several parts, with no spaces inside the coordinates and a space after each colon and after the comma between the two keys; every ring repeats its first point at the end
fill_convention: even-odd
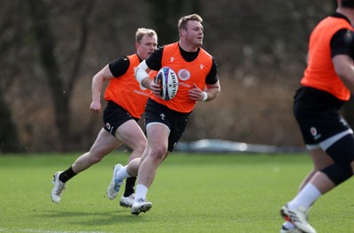
{"type": "Polygon", "coordinates": [[[145,109],[145,128],[153,122],[165,124],[171,131],[168,137],[168,151],[172,152],[186,129],[189,114],[168,109],[157,101],[149,99],[145,109]]]}

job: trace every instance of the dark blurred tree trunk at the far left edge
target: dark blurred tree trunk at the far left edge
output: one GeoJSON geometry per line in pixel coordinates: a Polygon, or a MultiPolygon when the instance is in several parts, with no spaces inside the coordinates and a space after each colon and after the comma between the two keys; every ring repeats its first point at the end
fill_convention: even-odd
{"type": "Polygon", "coordinates": [[[19,1],[8,1],[3,4],[0,14],[0,64],[3,66],[0,71],[0,152],[4,153],[22,152],[25,149],[13,120],[11,101],[6,99],[18,73],[18,69],[10,64],[18,58],[18,48],[23,36],[22,10],[19,1]]]}

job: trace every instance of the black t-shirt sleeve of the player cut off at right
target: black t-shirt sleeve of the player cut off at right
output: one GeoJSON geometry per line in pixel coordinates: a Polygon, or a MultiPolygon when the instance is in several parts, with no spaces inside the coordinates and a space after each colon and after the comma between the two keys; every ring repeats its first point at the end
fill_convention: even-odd
{"type": "Polygon", "coordinates": [[[330,42],[331,56],[348,55],[354,58],[354,32],[349,29],[341,29],[336,32],[330,42]]]}

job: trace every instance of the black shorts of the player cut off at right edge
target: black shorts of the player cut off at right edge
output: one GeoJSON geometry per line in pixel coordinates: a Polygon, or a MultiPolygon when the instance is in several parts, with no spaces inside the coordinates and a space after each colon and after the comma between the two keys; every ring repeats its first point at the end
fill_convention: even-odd
{"type": "Polygon", "coordinates": [[[312,87],[301,87],[294,97],[294,115],[307,146],[347,131],[350,126],[340,115],[344,101],[312,87]]]}

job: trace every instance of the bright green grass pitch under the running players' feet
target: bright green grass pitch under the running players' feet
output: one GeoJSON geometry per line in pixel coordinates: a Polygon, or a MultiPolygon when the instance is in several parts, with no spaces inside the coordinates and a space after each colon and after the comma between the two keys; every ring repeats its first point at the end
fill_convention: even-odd
{"type": "MultiPolygon", "coordinates": [[[[127,162],[119,152],[68,182],[58,205],[51,202],[53,173],[79,155],[0,156],[0,231],[279,232],[279,209],[312,169],[306,154],[173,153],[150,187],[152,209],[134,216],[105,194],[113,164],[127,162]]],[[[354,232],[353,197],[350,180],[319,199],[312,226],[354,232]]]]}

